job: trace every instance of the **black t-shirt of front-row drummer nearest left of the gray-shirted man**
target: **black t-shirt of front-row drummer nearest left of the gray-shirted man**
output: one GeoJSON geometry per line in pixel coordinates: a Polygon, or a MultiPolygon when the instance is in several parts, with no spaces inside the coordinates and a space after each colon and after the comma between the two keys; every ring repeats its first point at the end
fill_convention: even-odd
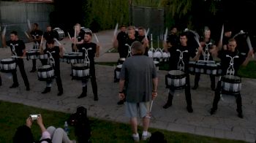
{"type": "Polygon", "coordinates": [[[97,49],[97,44],[95,44],[94,42],[89,42],[89,43],[84,42],[82,45],[80,45],[80,47],[78,47],[78,51],[80,53],[83,53],[83,56],[85,56],[86,50],[83,50],[83,48],[86,48],[86,50],[88,50],[88,56],[89,56],[90,63],[93,63],[94,56],[95,56],[96,49],[97,49]],[[90,48],[91,48],[91,50],[90,50],[90,48]]]}

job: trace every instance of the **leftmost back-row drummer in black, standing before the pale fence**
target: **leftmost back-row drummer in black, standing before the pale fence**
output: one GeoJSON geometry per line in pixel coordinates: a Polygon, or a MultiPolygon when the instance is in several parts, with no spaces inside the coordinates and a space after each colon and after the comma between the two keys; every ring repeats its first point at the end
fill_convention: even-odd
{"type": "MultiPolygon", "coordinates": [[[[39,30],[38,23],[34,23],[33,26],[33,30],[30,32],[31,38],[34,41],[33,49],[39,50],[39,45],[42,39],[43,32],[39,30]]],[[[32,63],[32,69],[30,72],[37,71],[37,59],[32,59],[32,63]]]]}

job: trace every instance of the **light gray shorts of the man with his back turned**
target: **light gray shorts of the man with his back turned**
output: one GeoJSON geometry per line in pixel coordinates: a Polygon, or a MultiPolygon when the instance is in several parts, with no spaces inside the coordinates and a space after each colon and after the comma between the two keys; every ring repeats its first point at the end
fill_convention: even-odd
{"type": "Polygon", "coordinates": [[[138,113],[140,114],[140,117],[145,117],[149,110],[149,102],[126,102],[125,105],[125,115],[127,117],[137,117],[138,113]]]}

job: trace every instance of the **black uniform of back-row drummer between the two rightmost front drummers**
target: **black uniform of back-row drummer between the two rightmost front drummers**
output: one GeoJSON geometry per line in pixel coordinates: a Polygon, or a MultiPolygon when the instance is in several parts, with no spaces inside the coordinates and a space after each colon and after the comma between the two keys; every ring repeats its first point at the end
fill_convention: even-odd
{"type": "MultiPolygon", "coordinates": [[[[200,39],[200,41],[203,41],[203,39],[200,39]]],[[[214,42],[213,39],[210,39],[210,41],[206,42],[206,45],[203,46],[203,51],[206,52],[206,46],[207,46],[208,47],[208,53],[210,54],[209,58],[207,59],[207,55],[206,55],[206,59],[204,59],[204,55],[203,55],[203,53],[201,53],[199,60],[202,60],[202,61],[213,61],[214,60],[214,58],[212,57],[212,55],[210,53],[211,46],[214,45],[214,43],[215,42],[214,42]],[[211,43],[211,45],[210,45],[210,43],[211,43]]],[[[194,85],[194,88],[192,88],[192,89],[197,89],[198,82],[200,80],[200,75],[201,75],[200,73],[195,73],[195,85],[194,85]]],[[[211,90],[214,90],[215,89],[215,75],[210,74],[209,76],[210,76],[210,79],[211,79],[211,90]]]]}

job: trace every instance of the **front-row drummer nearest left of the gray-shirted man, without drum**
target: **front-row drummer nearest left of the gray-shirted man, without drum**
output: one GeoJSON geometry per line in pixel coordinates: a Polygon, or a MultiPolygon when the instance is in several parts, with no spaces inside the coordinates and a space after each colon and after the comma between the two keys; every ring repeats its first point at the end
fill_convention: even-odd
{"type": "MultiPolygon", "coordinates": [[[[96,74],[95,74],[95,65],[94,65],[94,57],[99,57],[99,45],[95,44],[94,42],[91,42],[92,34],[91,32],[86,32],[84,34],[84,42],[81,44],[78,49],[80,53],[83,53],[83,57],[86,56],[86,51],[88,52],[89,56],[89,77],[91,78],[91,87],[92,92],[94,93],[94,101],[98,101],[98,89],[97,89],[97,81],[96,81],[96,74]]],[[[78,96],[78,98],[83,98],[87,96],[87,83],[89,81],[88,79],[83,79],[83,92],[78,96]]]]}

